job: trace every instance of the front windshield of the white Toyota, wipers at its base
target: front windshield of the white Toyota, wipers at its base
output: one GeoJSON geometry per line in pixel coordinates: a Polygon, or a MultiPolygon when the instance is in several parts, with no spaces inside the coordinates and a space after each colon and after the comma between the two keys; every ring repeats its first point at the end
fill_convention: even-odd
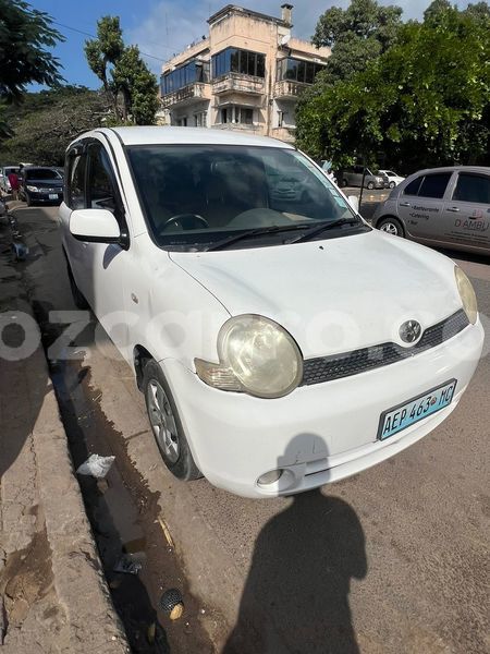
{"type": "Polygon", "coordinates": [[[127,153],[148,227],[169,250],[221,247],[226,239],[233,247],[272,245],[296,239],[292,230],[341,219],[329,237],[369,229],[352,220],[335,186],[294,149],[145,145],[127,153]]]}

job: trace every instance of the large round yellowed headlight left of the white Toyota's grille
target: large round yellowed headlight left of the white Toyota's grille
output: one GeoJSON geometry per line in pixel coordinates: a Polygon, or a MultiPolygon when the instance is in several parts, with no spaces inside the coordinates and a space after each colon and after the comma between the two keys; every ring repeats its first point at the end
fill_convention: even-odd
{"type": "Polygon", "coordinates": [[[222,390],[280,398],[303,378],[303,356],[280,325],[257,315],[230,318],[218,335],[220,363],[195,360],[200,379],[222,390]]]}

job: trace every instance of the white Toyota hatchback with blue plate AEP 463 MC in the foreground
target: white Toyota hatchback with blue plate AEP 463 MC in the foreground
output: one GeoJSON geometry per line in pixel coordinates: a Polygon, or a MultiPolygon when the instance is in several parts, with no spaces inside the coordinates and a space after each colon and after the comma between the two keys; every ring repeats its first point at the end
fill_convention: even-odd
{"type": "Polygon", "coordinates": [[[388,459],[456,408],[483,341],[469,280],[371,229],[291,145],[101,129],[70,145],[66,171],[75,301],[134,371],[177,477],[299,493],[388,459]],[[302,192],[278,193],[285,179],[302,192]]]}

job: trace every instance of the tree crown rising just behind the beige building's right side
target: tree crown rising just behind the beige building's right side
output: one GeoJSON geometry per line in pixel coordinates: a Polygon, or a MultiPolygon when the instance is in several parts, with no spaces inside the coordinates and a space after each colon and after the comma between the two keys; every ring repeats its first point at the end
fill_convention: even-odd
{"type": "Polygon", "coordinates": [[[401,16],[400,7],[381,7],[376,0],[352,0],[346,10],[328,9],[311,39],[317,47],[332,48],[319,82],[332,84],[363,71],[394,43],[401,16]]]}

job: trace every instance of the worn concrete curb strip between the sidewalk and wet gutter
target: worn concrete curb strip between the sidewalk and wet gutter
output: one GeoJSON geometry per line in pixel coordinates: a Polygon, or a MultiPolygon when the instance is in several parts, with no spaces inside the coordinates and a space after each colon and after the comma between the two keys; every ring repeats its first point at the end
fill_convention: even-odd
{"type": "Polygon", "coordinates": [[[70,653],[126,654],[130,646],[103,577],[41,348],[33,362],[29,385],[35,377],[46,379],[33,441],[54,588],[68,618],[70,653]]]}

